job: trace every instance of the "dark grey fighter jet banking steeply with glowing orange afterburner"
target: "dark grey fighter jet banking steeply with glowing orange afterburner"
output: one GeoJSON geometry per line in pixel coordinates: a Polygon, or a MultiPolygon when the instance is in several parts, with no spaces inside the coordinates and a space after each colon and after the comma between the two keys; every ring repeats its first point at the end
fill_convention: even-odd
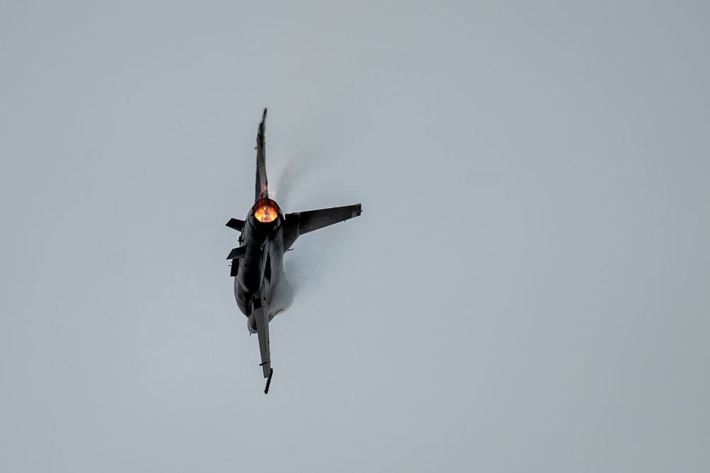
{"type": "Polygon", "coordinates": [[[255,203],[246,219],[230,219],[226,226],[239,234],[239,247],[231,250],[231,274],[234,276],[236,305],[246,315],[246,327],[256,333],[261,351],[261,368],[268,393],[273,369],[269,350],[268,323],[288,309],[293,290],[283,273],[283,254],[296,239],[328,225],[344,222],[361,214],[361,205],[345,205],[329,209],[283,214],[268,197],[266,180],[266,109],[256,134],[255,203]]]}

